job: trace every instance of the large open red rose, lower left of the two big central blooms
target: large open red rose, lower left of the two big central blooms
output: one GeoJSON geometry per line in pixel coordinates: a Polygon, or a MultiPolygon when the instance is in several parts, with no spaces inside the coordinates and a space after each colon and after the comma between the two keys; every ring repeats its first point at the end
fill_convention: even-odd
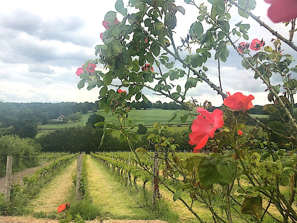
{"type": "Polygon", "coordinates": [[[207,143],[209,137],[214,137],[214,132],[223,127],[223,111],[215,109],[209,113],[204,108],[197,108],[197,119],[193,121],[191,126],[192,132],[189,134],[189,145],[196,145],[194,153],[198,153],[207,143]]]}

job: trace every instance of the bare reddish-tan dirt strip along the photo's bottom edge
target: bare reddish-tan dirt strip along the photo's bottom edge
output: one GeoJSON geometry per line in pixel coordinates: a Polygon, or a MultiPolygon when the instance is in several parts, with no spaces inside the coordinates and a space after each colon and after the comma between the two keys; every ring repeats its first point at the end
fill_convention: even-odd
{"type": "MultiPolygon", "coordinates": [[[[30,217],[11,217],[0,216],[1,223],[58,223],[59,220],[34,219],[30,217]]],[[[86,223],[98,223],[99,221],[86,221],[86,223]]],[[[104,220],[103,223],[166,223],[160,220],[104,220]]]]}

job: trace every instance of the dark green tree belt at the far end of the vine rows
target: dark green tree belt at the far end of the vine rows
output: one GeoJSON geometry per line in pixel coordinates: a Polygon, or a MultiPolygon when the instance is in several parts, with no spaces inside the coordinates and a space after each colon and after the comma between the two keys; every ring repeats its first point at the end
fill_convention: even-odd
{"type": "MultiPolygon", "coordinates": [[[[147,136],[150,133],[143,135],[135,145],[135,148],[146,145],[147,136]]],[[[90,151],[130,150],[127,141],[120,142],[118,137],[112,135],[106,135],[103,145],[98,148],[102,135],[102,128],[93,128],[91,125],[87,125],[84,127],[57,129],[49,134],[39,137],[37,140],[45,152],[69,151],[70,153],[75,153],[77,151],[86,151],[86,153],[89,153],[90,151]]],[[[166,133],[165,137],[173,137],[175,143],[181,145],[182,149],[191,150],[193,148],[193,146],[188,144],[189,137],[187,135],[185,137],[182,136],[181,132],[166,133]]]]}

